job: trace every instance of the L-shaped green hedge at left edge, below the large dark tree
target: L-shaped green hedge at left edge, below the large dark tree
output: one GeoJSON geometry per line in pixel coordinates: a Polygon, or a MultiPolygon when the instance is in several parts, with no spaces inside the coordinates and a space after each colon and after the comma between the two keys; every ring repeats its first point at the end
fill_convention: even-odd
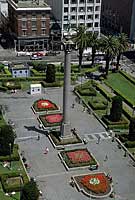
{"type": "Polygon", "coordinates": [[[20,159],[18,153],[18,145],[14,144],[13,153],[11,156],[0,156],[0,161],[18,161],[20,159]]]}

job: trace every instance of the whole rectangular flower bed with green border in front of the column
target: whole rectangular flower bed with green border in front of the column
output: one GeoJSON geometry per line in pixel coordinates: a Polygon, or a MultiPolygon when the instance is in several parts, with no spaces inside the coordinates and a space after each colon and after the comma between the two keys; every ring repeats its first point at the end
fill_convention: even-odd
{"type": "Polygon", "coordinates": [[[60,155],[69,168],[97,165],[97,161],[87,149],[61,151],[60,155]]]}

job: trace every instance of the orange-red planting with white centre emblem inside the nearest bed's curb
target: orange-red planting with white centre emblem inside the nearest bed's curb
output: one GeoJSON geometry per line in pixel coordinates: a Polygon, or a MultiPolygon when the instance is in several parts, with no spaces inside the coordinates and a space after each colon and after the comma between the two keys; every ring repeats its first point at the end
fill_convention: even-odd
{"type": "Polygon", "coordinates": [[[94,193],[106,193],[109,182],[104,173],[86,175],[81,179],[81,184],[94,193]]]}

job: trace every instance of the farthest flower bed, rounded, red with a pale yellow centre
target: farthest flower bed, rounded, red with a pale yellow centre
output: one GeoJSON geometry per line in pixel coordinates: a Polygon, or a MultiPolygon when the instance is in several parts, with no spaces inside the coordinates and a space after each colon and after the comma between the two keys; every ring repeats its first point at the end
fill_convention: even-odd
{"type": "Polygon", "coordinates": [[[49,111],[49,110],[59,110],[58,106],[50,100],[39,99],[34,102],[33,108],[36,112],[49,111]]]}

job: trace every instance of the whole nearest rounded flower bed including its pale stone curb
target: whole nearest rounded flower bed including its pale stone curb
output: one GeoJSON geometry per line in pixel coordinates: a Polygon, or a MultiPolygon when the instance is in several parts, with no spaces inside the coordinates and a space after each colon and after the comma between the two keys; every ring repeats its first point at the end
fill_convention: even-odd
{"type": "Polygon", "coordinates": [[[111,182],[103,172],[74,176],[73,179],[78,189],[86,195],[103,197],[112,192],[111,182]]]}

